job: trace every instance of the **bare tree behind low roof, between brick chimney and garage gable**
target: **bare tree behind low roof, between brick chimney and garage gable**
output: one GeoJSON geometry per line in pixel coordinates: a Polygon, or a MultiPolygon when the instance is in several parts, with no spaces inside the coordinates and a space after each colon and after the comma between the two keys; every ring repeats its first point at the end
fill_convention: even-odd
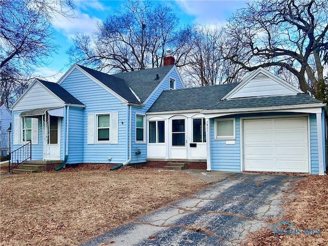
{"type": "Polygon", "coordinates": [[[188,46],[187,63],[183,75],[189,86],[211,86],[237,83],[243,73],[241,66],[224,59],[227,39],[222,29],[195,26],[188,46]]]}

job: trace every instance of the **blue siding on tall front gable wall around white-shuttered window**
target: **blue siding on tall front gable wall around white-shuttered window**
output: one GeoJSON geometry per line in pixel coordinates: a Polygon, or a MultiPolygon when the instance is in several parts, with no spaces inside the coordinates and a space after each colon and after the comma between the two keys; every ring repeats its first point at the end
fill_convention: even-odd
{"type": "MultiPolygon", "coordinates": [[[[87,107],[83,110],[83,157],[84,163],[123,163],[127,153],[127,106],[85,74],[75,69],[60,84],[87,107]],[[118,144],[87,144],[88,114],[118,112],[118,144]],[[123,122],[123,124],[121,123],[123,122]],[[108,158],[112,160],[109,161],[108,158]]],[[[71,129],[71,127],[70,127],[71,129]]],[[[71,141],[71,139],[69,140],[71,141]]],[[[72,143],[70,143],[72,144],[72,143]]],[[[77,158],[77,157],[75,157],[77,158]]]]}

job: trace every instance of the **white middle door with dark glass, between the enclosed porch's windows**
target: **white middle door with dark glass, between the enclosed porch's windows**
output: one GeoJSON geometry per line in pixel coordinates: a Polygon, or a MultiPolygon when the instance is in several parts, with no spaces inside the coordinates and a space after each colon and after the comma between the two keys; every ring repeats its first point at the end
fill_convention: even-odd
{"type": "Polygon", "coordinates": [[[172,119],[171,159],[187,159],[186,119],[172,119]]]}

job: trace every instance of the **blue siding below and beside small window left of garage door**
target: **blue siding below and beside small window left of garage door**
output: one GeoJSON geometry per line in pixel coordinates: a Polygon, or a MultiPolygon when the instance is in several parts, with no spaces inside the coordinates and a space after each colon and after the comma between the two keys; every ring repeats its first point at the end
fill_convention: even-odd
{"type": "Polygon", "coordinates": [[[240,117],[235,117],[236,138],[234,145],[227,145],[227,140],[214,139],[214,119],[210,120],[210,126],[212,170],[240,172],[240,117]]]}

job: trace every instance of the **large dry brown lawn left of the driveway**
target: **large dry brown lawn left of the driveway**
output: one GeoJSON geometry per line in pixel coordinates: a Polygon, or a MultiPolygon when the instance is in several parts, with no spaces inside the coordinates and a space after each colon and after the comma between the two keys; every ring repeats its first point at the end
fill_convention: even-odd
{"type": "Polygon", "coordinates": [[[1,178],[0,245],[78,245],[206,185],[182,172],[77,168],[1,178]]]}

